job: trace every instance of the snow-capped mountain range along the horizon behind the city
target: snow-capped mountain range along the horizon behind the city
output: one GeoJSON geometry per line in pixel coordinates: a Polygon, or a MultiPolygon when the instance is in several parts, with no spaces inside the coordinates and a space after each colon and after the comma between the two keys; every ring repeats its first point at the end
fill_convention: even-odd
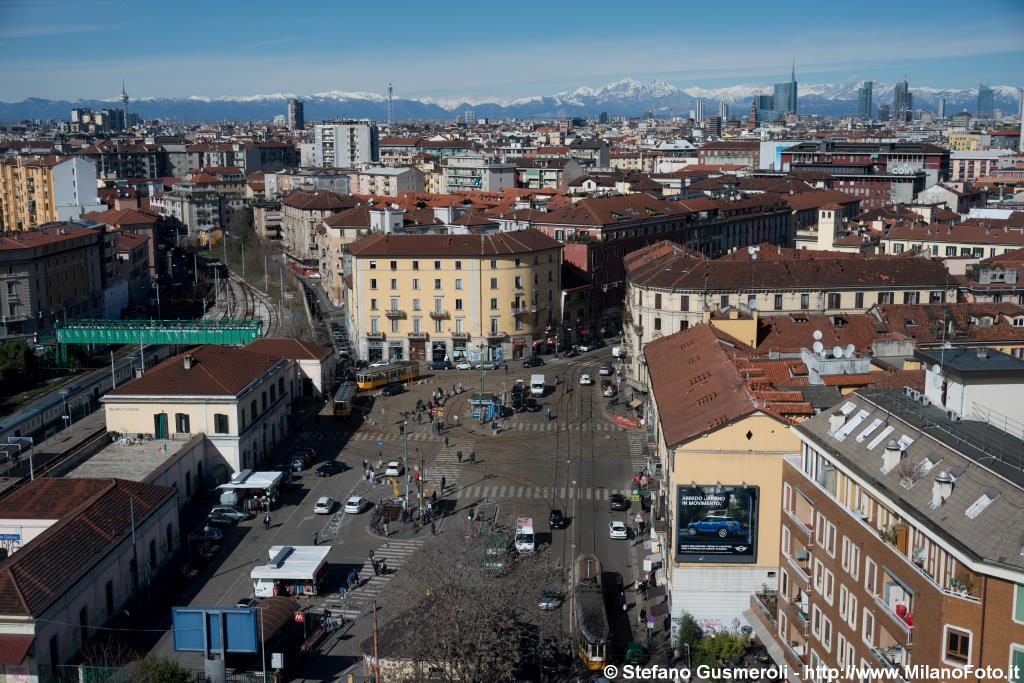
{"type": "MultiPolygon", "coordinates": [[[[860,82],[800,83],[799,110],[802,114],[844,115],[857,110],[857,89],[860,82]]],[[[995,109],[1005,114],[1018,111],[1019,91],[1008,85],[992,86],[995,109]]],[[[936,111],[939,99],[946,100],[946,115],[961,111],[974,112],[978,91],[911,87],[914,109],[936,111]]],[[[452,119],[465,110],[472,109],[477,117],[542,119],[550,117],[593,117],[601,112],[610,116],[639,116],[651,110],[657,117],[668,116],[669,108],[676,115],[685,116],[698,99],[706,103],[709,115],[718,112],[720,101],[730,106],[730,115],[742,116],[750,109],[756,94],[771,94],[768,84],[733,85],[724,88],[678,88],[665,81],[638,81],[632,78],[608,83],[600,87],[581,87],[571,91],[532,97],[417,97],[394,99],[394,116],[398,121],[424,119],[452,119]]],[[[131,111],[143,119],[180,121],[220,120],[271,120],[285,114],[288,99],[295,93],[279,92],[266,95],[224,97],[140,97],[131,101],[131,111]]],[[[298,95],[305,102],[307,121],[340,118],[371,118],[382,120],[386,116],[387,98],[377,92],[348,92],[329,90],[298,95]]],[[[876,82],[873,85],[874,109],[881,103],[891,103],[893,84],[876,82]]],[[[120,106],[120,100],[83,99],[78,101],[29,98],[19,102],[0,101],[0,120],[68,119],[73,106],[94,110],[120,106]]]]}

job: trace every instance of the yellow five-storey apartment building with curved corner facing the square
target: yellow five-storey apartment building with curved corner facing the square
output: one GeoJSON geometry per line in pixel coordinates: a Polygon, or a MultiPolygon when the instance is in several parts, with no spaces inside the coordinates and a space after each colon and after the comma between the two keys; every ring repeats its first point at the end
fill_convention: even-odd
{"type": "Polygon", "coordinates": [[[538,230],[375,232],[348,245],[345,323],[366,360],[509,360],[561,318],[561,244],[538,230]]]}

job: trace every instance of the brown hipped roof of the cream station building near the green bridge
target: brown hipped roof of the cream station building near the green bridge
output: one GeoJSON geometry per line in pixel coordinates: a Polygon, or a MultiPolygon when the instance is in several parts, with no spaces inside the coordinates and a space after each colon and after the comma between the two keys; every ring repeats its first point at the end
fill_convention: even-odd
{"type": "Polygon", "coordinates": [[[234,396],[280,361],[279,358],[229,346],[207,344],[171,356],[108,396],[234,396]],[[184,356],[191,354],[191,369],[184,356]]]}

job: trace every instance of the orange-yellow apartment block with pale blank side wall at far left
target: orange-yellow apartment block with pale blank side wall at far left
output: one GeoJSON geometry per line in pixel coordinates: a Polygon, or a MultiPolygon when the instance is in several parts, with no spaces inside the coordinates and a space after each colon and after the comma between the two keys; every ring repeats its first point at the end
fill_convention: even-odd
{"type": "Polygon", "coordinates": [[[30,230],[73,220],[103,207],[96,167],[76,157],[9,157],[0,160],[0,228],[30,230]]]}

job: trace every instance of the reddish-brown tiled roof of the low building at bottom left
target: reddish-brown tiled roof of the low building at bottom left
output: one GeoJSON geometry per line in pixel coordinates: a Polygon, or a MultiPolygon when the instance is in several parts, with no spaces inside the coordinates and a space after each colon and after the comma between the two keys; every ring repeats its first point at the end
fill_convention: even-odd
{"type": "Polygon", "coordinates": [[[54,519],[0,562],[0,614],[38,616],[136,522],[176,496],[170,486],[123,479],[41,477],[3,499],[0,517],[54,519]]]}

